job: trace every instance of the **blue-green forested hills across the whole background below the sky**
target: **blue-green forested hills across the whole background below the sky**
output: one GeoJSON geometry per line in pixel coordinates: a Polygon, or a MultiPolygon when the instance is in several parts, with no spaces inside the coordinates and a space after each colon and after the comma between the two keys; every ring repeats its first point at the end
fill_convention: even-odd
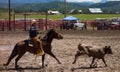
{"type": "MultiPolygon", "coordinates": [[[[31,1],[31,0],[30,0],[31,1]]],[[[15,12],[45,12],[47,10],[58,10],[60,12],[64,11],[64,2],[48,0],[47,2],[38,3],[12,3],[11,7],[15,12]],[[49,2],[50,1],[50,2],[49,2]]],[[[67,3],[67,11],[71,9],[82,9],[83,12],[87,13],[88,8],[101,8],[104,12],[115,13],[120,12],[120,1],[109,1],[105,3],[67,3]]],[[[0,8],[7,8],[7,4],[0,3],[0,8]]]]}

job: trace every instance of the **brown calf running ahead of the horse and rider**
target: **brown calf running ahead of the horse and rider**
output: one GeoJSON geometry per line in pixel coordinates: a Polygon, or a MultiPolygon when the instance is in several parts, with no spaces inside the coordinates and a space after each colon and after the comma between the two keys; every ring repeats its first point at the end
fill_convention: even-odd
{"type": "Polygon", "coordinates": [[[102,59],[105,66],[107,66],[106,61],[104,59],[104,56],[106,54],[113,54],[110,46],[104,46],[104,47],[95,47],[95,46],[87,46],[83,44],[78,45],[78,51],[75,55],[75,60],[73,62],[76,63],[76,60],[81,55],[88,55],[89,57],[93,57],[92,62],[90,64],[90,67],[93,67],[92,64],[94,63],[95,59],[102,59]]]}

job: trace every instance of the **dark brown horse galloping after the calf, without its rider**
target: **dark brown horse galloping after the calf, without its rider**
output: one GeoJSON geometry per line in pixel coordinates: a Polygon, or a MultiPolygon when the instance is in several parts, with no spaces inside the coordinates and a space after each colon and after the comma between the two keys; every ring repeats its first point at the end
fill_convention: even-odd
{"type": "MultiPolygon", "coordinates": [[[[60,61],[56,58],[56,56],[51,52],[51,49],[52,49],[51,43],[52,43],[53,39],[63,39],[63,36],[61,36],[59,33],[57,33],[54,29],[50,29],[50,30],[46,33],[46,35],[41,39],[41,40],[42,40],[42,45],[43,45],[43,50],[44,50],[45,54],[46,54],[46,53],[49,54],[50,56],[52,56],[53,58],[55,58],[59,64],[61,64],[61,62],[60,62],[60,61]]],[[[15,59],[15,69],[17,69],[17,68],[18,68],[17,62],[19,61],[19,59],[20,59],[26,52],[30,52],[30,53],[36,54],[37,51],[35,50],[35,48],[30,47],[30,46],[28,45],[28,40],[23,40],[23,41],[18,42],[18,43],[15,45],[15,47],[14,47],[14,49],[13,49],[13,51],[12,51],[12,53],[11,53],[8,61],[7,61],[7,63],[4,64],[4,66],[8,66],[9,63],[10,63],[10,61],[11,61],[14,57],[17,56],[16,59],[15,59]]],[[[42,67],[44,67],[45,54],[42,55],[42,67]]]]}

